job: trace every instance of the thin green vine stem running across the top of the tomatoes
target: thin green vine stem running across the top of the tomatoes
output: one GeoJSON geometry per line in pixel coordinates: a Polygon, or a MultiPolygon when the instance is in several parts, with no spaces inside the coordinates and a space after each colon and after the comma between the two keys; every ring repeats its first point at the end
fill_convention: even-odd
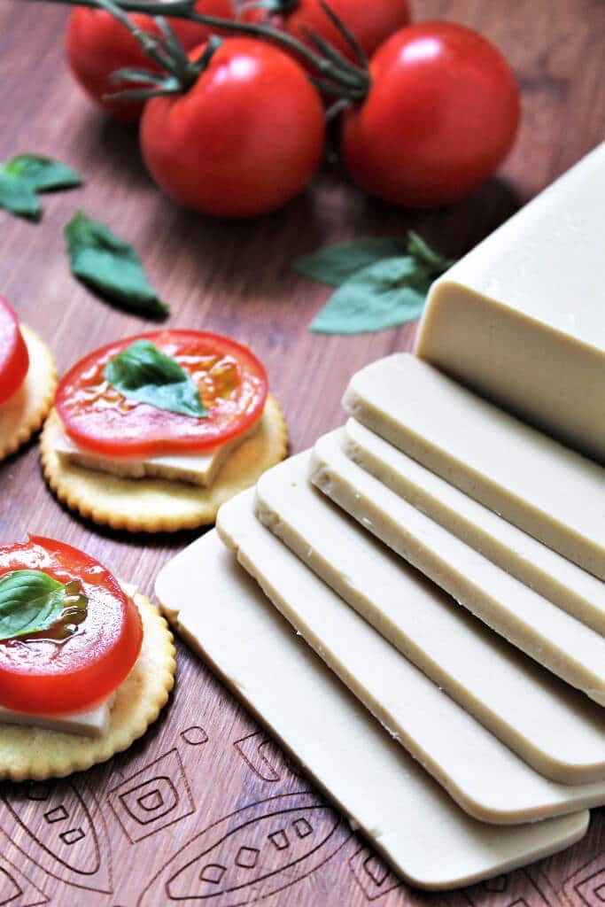
{"type": "MultiPolygon", "coordinates": [[[[216,15],[206,15],[195,10],[196,0],[30,0],[32,3],[57,3],[65,6],[87,6],[90,9],[107,9],[109,5],[117,9],[122,15],[127,13],[144,13],[163,19],[187,19],[190,22],[197,22],[216,29],[222,33],[230,32],[233,34],[248,34],[261,40],[271,41],[281,45],[298,55],[298,58],[304,59],[314,70],[319,73],[318,77],[311,76],[311,81],[317,84],[322,91],[333,95],[335,98],[342,98],[349,102],[362,102],[370,88],[370,77],[365,66],[365,55],[358,47],[353,36],[348,32],[346,26],[332,13],[329,6],[321,3],[328,18],[330,18],[341,33],[345,35],[348,43],[353,47],[358,64],[351,63],[344,54],[340,54],[336,48],[328,45],[329,53],[322,55],[325,44],[322,39],[315,40],[317,36],[312,36],[316,47],[322,51],[322,54],[316,53],[307,47],[306,44],[298,41],[297,38],[286,32],[280,31],[268,24],[241,22],[238,19],[222,19],[216,15]]],[[[124,15],[124,18],[128,17],[124,15]]],[[[123,22],[123,20],[122,20],[123,22]]],[[[136,26],[134,26],[136,27],[136,26]]],[[[141,31],[140,29],[138,30],[141,31]]],[[[146,33],[142,33],[146,34],[146,33]]],[[[147,35],[149,37],[149,35],[147,35]]],[[[153,47],[147,53],[156,62],[159,62],[158,56],[163,56],[161,42],[152,42],[153,47]]],[[[164,58],[165,59],[165,58],[164,58]]],[[[161,63],[166,68],[166,62],[161,63]]],[[[170,71],[170,68],[169,68],[170,71]]]]}

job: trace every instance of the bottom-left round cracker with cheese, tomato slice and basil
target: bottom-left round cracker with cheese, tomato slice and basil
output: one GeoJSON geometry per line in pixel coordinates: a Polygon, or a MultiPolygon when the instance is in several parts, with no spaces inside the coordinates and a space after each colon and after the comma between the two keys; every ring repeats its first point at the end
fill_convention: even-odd
{"type": "Polygon", "coordinates": [[[0,548],[0,778],[62,777],[144,734],[174,683],[149,599],[62,541],[0,548]]]}

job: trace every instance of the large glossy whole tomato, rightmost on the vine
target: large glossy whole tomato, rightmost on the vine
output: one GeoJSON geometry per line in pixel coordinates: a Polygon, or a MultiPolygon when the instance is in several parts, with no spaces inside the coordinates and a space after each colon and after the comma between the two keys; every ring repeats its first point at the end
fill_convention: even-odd
{"type": "Polygon", "coordinates": [[[502,54],[463,25],[423,22],[370,61],[366,101],[344,117],[342,148],[356,183],[399,205],[463,198],[498,167],[520,117],[502,54]]]}

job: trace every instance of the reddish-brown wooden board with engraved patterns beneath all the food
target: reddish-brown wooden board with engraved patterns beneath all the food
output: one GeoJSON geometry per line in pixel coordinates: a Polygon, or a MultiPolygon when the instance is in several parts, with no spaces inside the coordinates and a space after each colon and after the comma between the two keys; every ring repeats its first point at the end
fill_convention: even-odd
{"type": "MultiPolygon", "coordinates": [[[[342,422],[349,375],[409,348],[414,327],[308,334],[327,290],[297,278],[293,258],[336,239],[403,236],[408,228],[458,256],[603,139],[602,0],[415,0],[414,7],[417,19],[479,29],[511,61],[523,120],[499,176],[452,208],[409,212],[368,200],[326,166],[283,210],[229,222],[164,199],[141,165],[136,133],[84,99],[63,61],[63,8],[0,0],[0,160],[46,153],[86,180],[82,189],[45,196],[40,224],[0,211],[0,292],[53,347],[60,371],[95,346],[151,327],[71,278],[63,226],[82,208],[136,244],[171,304],[170,326],[219,331],[253,347],[284,405],[292,451],[342,422]]],[[[0,466],[0,540],[27,531],[82,547],[147,593],[161,565],[197,534],[128,535],[74,518],[45,487],[35,442],[0,466]]],[[[178,654],[171,704],[129,752],[65,781],[0,785],[0,905],[229,907],[264,899],[270,907],[597,907],[605,900],[598,811],[571,851],[462,892],[412,891],[210,671],[184,646],[178,654]],[[276,830],[284,836],[271,845],[268,832],[276,830]],[[287,838],[288,847],[278,846],[287,838]]]]}

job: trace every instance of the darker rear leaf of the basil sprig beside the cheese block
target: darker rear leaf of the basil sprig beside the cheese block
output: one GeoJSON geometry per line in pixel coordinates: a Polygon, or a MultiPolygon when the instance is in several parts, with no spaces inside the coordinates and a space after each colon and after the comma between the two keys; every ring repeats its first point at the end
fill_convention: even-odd
{"type": "Polygon", "coordinates": [[[380,258],[395,258],[404,252],[403,244],[396,239],[352,239],[298,258],[294,268],[303,277],[339,287],[356,271],[367,268],[380,258]]]}

